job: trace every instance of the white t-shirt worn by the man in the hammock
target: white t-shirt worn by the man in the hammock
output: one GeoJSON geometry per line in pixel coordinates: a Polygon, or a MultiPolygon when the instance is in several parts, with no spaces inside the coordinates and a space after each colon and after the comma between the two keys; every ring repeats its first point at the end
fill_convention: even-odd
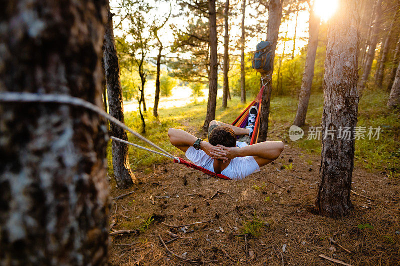
{"type": "MultiPolygon", "coordinates": [[[[237,141],[236,147],[247,146],[245,142],[237,141]]],[[[211,172],[214,172],[214,160],[211,159],[204,151],[196,150],[190,146],[186,153],[187,159],[192,161],[195,165],[201,166],[211,172]]],[[[222,170],[221,174],[233,180],[243,179],[246,176],[259,172],[259,166],[252,156],[236,157],[230,160],[229,165],[222,170]]]]}

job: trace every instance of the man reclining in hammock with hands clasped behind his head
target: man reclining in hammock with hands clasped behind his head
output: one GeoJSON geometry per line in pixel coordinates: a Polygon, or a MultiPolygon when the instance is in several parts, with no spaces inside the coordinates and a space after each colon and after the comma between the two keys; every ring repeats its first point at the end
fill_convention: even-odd
{"type": "MultiPolygon", "coordinates": [[[[256,114],[256,108],[255,114],[256,114]]],[[[212,120],[208,125],[208,142],[190,133],[176,128],[168,130],[169,141],[173,146],[185,152],[194,164],[216,174],[238,180],[258,172],[259,168],[276,160],[283,151],[283,142],[264,141],[252,145],[249,143],[255,123],[254,109],[249,110],[246,128],[235,127],[212,120]],[[247,141],[236,141],[236,136],[245,135],[247,141]]]]}

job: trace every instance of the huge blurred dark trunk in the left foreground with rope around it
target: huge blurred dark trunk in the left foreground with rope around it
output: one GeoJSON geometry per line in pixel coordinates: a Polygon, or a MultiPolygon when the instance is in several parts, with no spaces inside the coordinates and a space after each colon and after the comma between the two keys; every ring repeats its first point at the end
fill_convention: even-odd
{"type": "MultiPolygon", "coordinates": [[[[104,0],[15,0],[0,10],[0,91],[102,108],[104,0]]],[[[0,105],[1,265],[106,265],[104,119],[65,104],[0,105]]]]}

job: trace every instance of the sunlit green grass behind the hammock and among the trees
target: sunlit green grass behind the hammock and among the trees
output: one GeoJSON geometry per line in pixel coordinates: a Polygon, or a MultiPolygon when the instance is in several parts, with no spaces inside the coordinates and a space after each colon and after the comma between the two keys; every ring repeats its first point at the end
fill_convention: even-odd
{"type": "MultiPolygon", "coordinates": [[[[251,98],[251,97],[250,97],[251,98]]],[[[250,99],[249,98],[249,99],[250,99]]],[[[365,91],[358,106],[357,126],[382,128],[378,140],[360,139],[355,141],[356,166],[369,169],[370,171],[384,171],[389,177],[398,177],[400,172],[400,115],[386,107],[387,94],[381,91],[365,91]]],[[[248,103],[247,103],[248,104],[248,103]]],[[[228,101],[228,108],[222,109],[221,99],[217,99],[215,119],[224,122],[232,122],[247,104],[240,103],[239,98],[233,97],[228,101]]],[[[303,126],[304,134],[307,135],[310,126],[320,126],[322,116],[323,94],[312,94],[309,101],[306,124],[303,126]]],[[[207,103],[191,102],[183,107],[160,109],[159,117],[155,119],[151,108],[145,113],[146,133],[142,134],[152,142],[156,143],[166,151],[181,155],[181,153],[170,145],[167,137],[169,127],[182,129],[194,129],[200,132],[204,123],[207,103]]],[[[297,97],[279,96],[273,97],[270,103],[268,140],[284,139],[290,145],[295,145],[304,152],[312,155],[320,155],[321,141],[302,138],[290,141],[288,128],[290,127],[297,108],[297,97]]],[[[125,123],[137,132],[141,132],[141,122],[138,112],[125,113],[125,123]]],[[[201,137],[200,135],[198,135],[201,137]]],[[[132,135],[128,135],[131,142],[148,146],[132,135]]],[[[111,149],[108,146],[108,169],[112,173],[111,149]]],[[[145,171],[152,171],[151,166],[160,163],[167,158],[149,153],[147,151],[129,147],[129,162],[132,168],[147,167],[145,171]]],[[[307,162],[308,164],[310,162],[307,162]]]]}

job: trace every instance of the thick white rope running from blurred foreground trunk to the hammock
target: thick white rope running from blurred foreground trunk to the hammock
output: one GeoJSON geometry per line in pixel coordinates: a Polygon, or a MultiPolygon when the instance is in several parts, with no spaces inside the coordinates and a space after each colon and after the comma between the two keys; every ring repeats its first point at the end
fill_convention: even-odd
{"type": "MultiPolygon", "coordinates": [[[[104,112],[104,110],[102,110],[98,106],[96,106],[96,105],[94,105],[94,104],[92,104],[90,102],[87,102],[85,100],[82,100],[80,98],[77,98],[77,97],[72,97],[72,96],[64,95],[64,94],[39,94],[39,93],[30,93],[30,92],[0,92],[0,102],[47,102],[47,103],[55,102],[55,103],[63,103],[63,104],[81,106],[81,107],[89,109],[89,110],[91,110],[91,111],[93,111],[93,112],[95,112],[95,113],[107,118],[109,121],[113,122],[117,126],[125,129],[126,131],[128,131],[131,134],[133,134],[137,138],[141,139],[142,141],[150,144],[154,148],[156,148],[156,149],[160,150],[161,152],[163,152],[164,154],[168,155],[167,157],[173,158],[175,160],[179,160],[179,158],[174,157],[169,152],[167,152],[164,149],[158,147],[156,144],[152,143],[151,141],[149,141],[145,137],[141,136],[139,133],[135,132],[134,130],[132,130],[131,128],[126,126],[124,123],[122,123],[121,121],[119,121],[115,117],[113,117],[113,116],[107,114],[106,112],[104,112]]],[[[111,137],[111,138],[113,138],[113,137],[111,137]]],[[[137,147],[141,148],[141,149],[145,149],[145,150],[151,151],[151,152],[155,152],[153,150],[144,148],[144,147],[139,146],[139,145],[137,145],[137,147]]],[[[161,153],[158,153],[158,154],[161,154],[161,153]]]]}

